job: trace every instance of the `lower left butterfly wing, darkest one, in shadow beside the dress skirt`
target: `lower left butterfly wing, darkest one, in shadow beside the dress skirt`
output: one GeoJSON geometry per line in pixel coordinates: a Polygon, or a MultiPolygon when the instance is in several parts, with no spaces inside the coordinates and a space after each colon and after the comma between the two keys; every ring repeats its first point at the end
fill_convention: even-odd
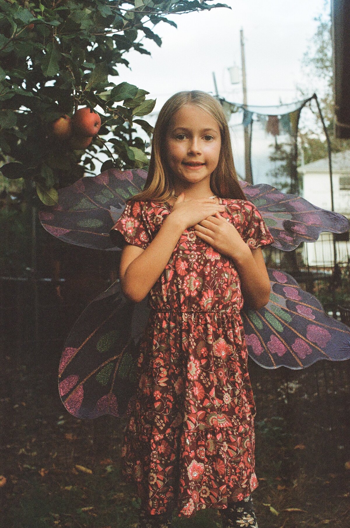
{"type": "Polygon", "coordinates": [[[59,366],[60,398],[73,416],[120,417],[129,412],[148,313],[147,297],[133,303],[117,281],[80,315],[59,366]]]}

